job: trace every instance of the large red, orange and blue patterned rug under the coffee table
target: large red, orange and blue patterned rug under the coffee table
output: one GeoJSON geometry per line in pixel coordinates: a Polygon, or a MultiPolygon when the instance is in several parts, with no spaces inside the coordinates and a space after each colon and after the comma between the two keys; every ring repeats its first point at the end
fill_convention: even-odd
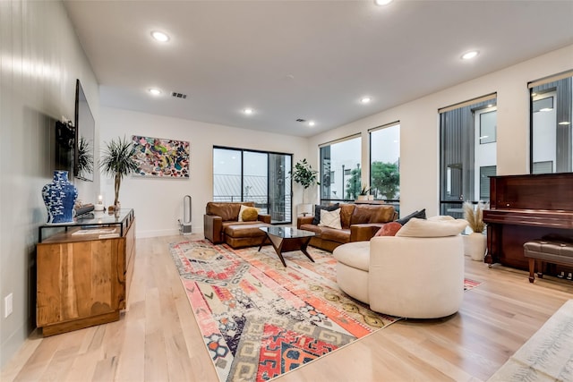
{"type": "Polygon", "coordinates": [[[316,360],[399,318],[375,313],[336,284],[336,259],[309,248],[232,250],[207,241],[170,252],[221,381],[262,381],[316,360]]]}

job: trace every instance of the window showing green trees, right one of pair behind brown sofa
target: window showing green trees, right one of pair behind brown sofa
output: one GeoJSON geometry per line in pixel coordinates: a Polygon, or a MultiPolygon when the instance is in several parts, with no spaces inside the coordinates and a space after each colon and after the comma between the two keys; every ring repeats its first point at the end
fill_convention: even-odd
{"type": "Polygon", "coordinates": [[[399,208],[400,123],[370,131],[370,194],[399,208]]]}

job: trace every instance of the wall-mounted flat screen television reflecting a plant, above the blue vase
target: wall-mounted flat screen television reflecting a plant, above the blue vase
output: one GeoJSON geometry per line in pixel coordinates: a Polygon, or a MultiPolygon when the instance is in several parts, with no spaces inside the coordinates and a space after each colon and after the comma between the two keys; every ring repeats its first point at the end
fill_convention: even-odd
{"type": "Polygon", "coordinates": [[[96,122],[91,114],[88,99],[80,80],[75,86],[75,154],[73,174],[76,178],[93,182],[94,137],[96,122]]]}

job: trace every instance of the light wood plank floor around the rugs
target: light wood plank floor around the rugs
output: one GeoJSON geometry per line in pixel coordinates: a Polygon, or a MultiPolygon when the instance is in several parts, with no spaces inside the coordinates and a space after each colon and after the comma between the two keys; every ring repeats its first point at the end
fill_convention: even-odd
{"type": "MultiPolygon", "coordinates": [[[[42,338],[31,335],[2,381],[217,381],[167,244],[198,235],[137,241],[128,311],[118,322],[42,338]]],[[[439,277],[440,275],[436,275],[439,277]]],[[[412,275],[415,277],[415,275],[412,275]]],[[[278,381],[480,381],[508,360],[567,300],[573,282],[466,258],[458,314],[403,320],[278,381]]]]}

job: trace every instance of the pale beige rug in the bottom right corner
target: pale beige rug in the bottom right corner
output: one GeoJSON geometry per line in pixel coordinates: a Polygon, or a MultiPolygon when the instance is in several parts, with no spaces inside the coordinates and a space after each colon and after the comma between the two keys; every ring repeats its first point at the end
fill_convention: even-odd
{"type": "Polygon", "coordinates": [[[573,300],[565,302],[489,381],[573,381],[573,300]]]}

